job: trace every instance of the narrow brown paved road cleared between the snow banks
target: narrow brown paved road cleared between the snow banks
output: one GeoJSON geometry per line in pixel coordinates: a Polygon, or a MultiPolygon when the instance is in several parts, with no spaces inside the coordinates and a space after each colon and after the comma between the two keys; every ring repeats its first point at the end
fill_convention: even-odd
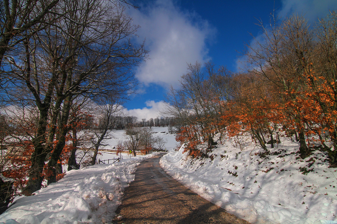
{"type": "Polygon", "coordinates": [[[125,189],[123,216],[115,224],[249,224],[195,194],[167,175],[159,166],[160,156],[142,162],[135,181],[125,189]]]}

